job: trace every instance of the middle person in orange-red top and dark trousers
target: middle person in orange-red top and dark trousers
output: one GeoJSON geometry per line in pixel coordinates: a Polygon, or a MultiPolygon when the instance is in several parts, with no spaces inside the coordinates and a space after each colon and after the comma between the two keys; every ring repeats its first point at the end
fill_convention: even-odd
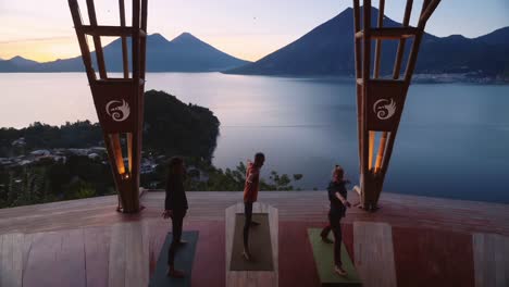
{"type": "Polygon", "coordinates": [[[265,162],[265,155],[261,152],[254,154],[254,162],[248,161],[246,170],[246,183],[244,185],[244,252],[243,255],[246,260],[251,260],[249,252],[249,227],[257,226],[259,223],[252,221],[252,203],[257,201],[259,183],[260,183],[260,169],[265,162]]]}

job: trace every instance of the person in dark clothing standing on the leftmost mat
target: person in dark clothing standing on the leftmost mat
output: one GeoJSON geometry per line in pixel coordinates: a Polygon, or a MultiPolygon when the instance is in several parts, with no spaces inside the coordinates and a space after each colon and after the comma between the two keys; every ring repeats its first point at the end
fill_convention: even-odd
{"type": "Polygon", "coordinates": [[[182,238],[182,225],[184,216],[186,215],[188,205],[187,197],[184,190],[186,169],[184,166],[184,160],[178,157],[174,157],[169,163],[169,173],[166,178],[166,198],[164,200],[164,212],[162,216],[164,219],[172,219],[172,235],[173,240],[170,249],[167,250],[167,276],[171,277],[184,277],[183,271],[175,269],[175,252],[178,246],[184,245],[185,241],[182,238]]]}

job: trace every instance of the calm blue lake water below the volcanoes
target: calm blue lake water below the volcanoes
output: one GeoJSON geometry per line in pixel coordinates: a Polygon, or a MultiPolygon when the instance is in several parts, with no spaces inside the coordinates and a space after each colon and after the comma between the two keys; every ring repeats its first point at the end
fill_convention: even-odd
{"type": "MultiPolygon", "coordinates": [[[[0,126],[97,122],[85,74],[0,74],[0,126]]],[[[300,173],[303,189],[324,189],[334,164],[359,180],[353,79],[149,73],[146,89],[214,112],[219,167],[262,151],[264,176],[300,173]]],[[[509,86],[411,85],[384,190],[509,203],[509,86]]]]}

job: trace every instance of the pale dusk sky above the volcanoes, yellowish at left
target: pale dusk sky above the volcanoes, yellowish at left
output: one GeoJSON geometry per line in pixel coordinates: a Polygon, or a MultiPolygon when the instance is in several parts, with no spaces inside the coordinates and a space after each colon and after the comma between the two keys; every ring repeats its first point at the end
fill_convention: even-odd
{"type": "MultiPolygon", "coordinates": [[[[82,15],[87,18],[85,0],[78,2],[82,15]]],[[[95,2],[99,25],[119,25],[119,1],[95,2]]],[[[125,3],[129,7],[132,2],[125,3]]],[[[188,32],[226,53],[256,61],[334,17],[351,7],[352,1],[149,0],[148,3],[149,34],[160,33],[171,40],[188,32]]],[[[378,1],[372,3],[377,7],[378,1]]],[[[387,0],[385,14],[401,22],[405,3],[406,0],[387,0]]],[[[414,1],[413,15],[421,5],[422,0],[414,1]]],[[[126,12],[131,15],[131,9],[126,12]]],[[[461,34],[474,38],[505,26],[509,26],[509,0],[443,0],[426,32],[440,37],[461,34]]],[[[66,0],[0,0],[0,59],[22,55],[44,62],[78,54],[66,0]]]]}

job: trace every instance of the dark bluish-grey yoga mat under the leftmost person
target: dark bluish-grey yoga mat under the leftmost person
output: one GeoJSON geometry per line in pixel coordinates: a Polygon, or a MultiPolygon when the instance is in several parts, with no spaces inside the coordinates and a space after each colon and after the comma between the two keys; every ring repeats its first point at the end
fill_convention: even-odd
{"type": "Polygon", "coordinates": [[[167,249],[172,244],[172,237],[171,233],[166,235],[161,253],[159,253],[156,272],[150,278],[150,287],[190,286],[193,261],[195,260],[196,245],[198,242],[198,232],[182,233],[182,240],[187,241],[187,244],[177,249],[175,254],[175,267],[186,273],[184,278],[172,278],[166,276],[167,249]]]}

